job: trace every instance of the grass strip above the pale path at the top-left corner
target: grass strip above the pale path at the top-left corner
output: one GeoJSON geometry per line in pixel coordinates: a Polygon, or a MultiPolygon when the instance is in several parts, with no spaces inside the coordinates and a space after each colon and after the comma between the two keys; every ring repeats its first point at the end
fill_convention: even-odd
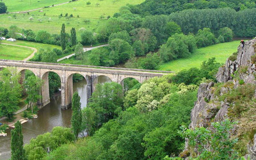
{"type": "Polygon", "coordinates": [[[8,12],[18,12],[51,6],[52,4],[65,3],[68,0],[3,0],[3,3],[8,7],[8,12]]]}

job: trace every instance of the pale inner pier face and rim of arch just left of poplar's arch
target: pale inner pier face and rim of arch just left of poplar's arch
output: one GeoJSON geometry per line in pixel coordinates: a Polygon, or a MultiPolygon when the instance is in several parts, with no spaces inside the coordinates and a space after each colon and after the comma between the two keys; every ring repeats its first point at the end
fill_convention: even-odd
{"type": "MultiPolygon", "coordinates": [[[[44,74],[42,74],[42,90],[41,90],[41,95],[42,95],[42,106],[45,106],[47,104],[49,104],[50,102],[50,91],[49,91],[49,72],[54,72],[52,70],[49,70],[47,72],[44,72],[44,74]]],[[[61,79],[60,74],[58,74],[57,72],[54,72],[55,74],[57,74],[60,77],[60,81],[61,84],[63,83],[63,79],[61,79]]],[[[61,92],[62,92],[62,85],[61,85],[61,92]]]]}

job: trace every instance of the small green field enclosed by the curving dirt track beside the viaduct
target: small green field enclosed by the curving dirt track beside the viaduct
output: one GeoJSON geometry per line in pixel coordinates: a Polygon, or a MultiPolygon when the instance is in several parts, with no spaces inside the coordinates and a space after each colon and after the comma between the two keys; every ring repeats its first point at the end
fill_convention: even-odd
{"type": "Polygon", "coordinates": [[[28,48],[0,44],[0,59],[24,60],[24,58],[27,58],[32,52],[33,50],[28,48]]]}

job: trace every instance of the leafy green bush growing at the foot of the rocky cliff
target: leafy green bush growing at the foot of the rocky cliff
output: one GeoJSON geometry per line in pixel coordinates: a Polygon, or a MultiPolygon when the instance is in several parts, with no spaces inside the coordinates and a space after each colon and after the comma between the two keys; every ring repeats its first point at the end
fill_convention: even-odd
{"type": "Polygon", "coordinates": [[[196,159],[237,159],[237,152],[233,149],[237,139],[230,138],[234,124],[230,120],[215,122],[211,124],[211,130],[182,127],[180,134],[188,138],[191,147],[197,148],[196,159]]]}

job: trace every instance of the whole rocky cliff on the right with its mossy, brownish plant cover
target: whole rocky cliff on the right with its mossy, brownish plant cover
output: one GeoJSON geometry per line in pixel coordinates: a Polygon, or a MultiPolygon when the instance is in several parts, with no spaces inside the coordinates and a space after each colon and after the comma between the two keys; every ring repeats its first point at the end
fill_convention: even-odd
{"type": "MultiPolygon", "coordinates": [[[[256,39],[253,39],[246,42],[243,48],[241,45],[238,47],[237,53],[230,56],[225,65],[219,68],[216,74],[218,83],[200,84],[189,125],[190,129],[195,129],[209,127],[211,122],[220,122],[226,118],[238,121],[232,134],[239,138],[238,147],[244,148],[241,154],[250,154],[251,159],[256,159],[256,115],[252,114],[256,111],[255,100],[252,100],[256,98],[255,44],[256,39]],[[230,98],[230,93],[236,92],[242,92],[241,96],[230,98]],[[252,138],[251,134],[254,135],[252,138]]],[[[185,150],[191,152],[188,141],[185,150]]],[[[193,152],[196,152],[195,148],[193,152]]]]}

